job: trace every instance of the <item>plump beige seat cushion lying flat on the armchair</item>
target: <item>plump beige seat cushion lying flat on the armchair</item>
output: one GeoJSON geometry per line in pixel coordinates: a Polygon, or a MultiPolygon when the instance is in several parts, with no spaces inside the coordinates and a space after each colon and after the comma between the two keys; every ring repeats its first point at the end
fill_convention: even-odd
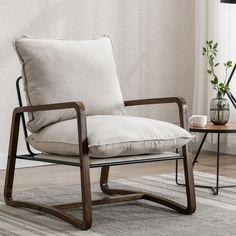
{"type": "MultiPolygon", "coordinates": [[[[91,157],[162,153],[187,144],[193,136],[179,126],[141,117],[87,117],[91,157]]],[[[61,121],[30,135],[29,143],[42,152],[79,155],[76,119],[61,121]]]]}

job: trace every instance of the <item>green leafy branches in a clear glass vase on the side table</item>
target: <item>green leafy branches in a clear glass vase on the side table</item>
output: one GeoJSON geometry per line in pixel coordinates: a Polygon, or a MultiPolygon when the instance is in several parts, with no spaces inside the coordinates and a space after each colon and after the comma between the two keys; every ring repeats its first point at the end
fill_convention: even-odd
{"type": "Polygon", "coordinates": [[[228,71],[232,67],[232,61],[224,63],[225,67],[225,79],[221,81],[216,75],[216,67],[220,63],[215,62],[218,53],[218,43],[213,40],[206,41],[206,47],[203,47],[202,55],[208,59],[207,73],[210,75],[210,82],[213,89],[216,90],[216,97],[211,100],[210,103],[210,119],[215,125],[224,125],[229,121],[230,106],[229,101],[225,98],[226,93],[230,90],[227,83],[228,71]]]}

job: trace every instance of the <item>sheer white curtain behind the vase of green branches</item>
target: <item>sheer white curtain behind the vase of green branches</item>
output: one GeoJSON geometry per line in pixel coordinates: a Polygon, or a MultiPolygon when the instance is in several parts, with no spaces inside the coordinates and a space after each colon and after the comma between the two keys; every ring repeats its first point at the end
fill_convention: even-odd
{"type": "MultiPolygon", "coordinates": [[[[209,82],[207,60],[201,55],[206,40],[219,42],[217,61],[236,62],[236,4],[222,4],[220,0],[196,0],[196,69],[193,98],[193,114],[209,116],[210,100],[215,96],[209,82]]],[[[225,78],[223,66],[218,69],[219,78],[225,78]]],[[[230,84],[231,92],[236,96],[236,73],[230,84]]],[[[231,105],[230,121],[236,122],[236,110],[231,105]]],[[[214,143],[212,136],[208,141],[214,143]]],[[[223,142],[232,146],[236,144],[235,135],[227,135],[223,142]]]]}

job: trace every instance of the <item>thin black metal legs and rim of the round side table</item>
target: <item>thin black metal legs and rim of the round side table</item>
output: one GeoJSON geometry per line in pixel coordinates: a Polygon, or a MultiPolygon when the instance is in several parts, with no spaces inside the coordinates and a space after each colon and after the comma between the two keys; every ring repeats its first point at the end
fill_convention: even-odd
{"type": "MultiPolygon", "coordinates": [[[[190,131],[192,132],[196,132],[196,130],[194,129],[190,129],[190,131]]],[[[203,131],[202,131],[203,132],[203,131]]],[[[198,156],[201,152],[202,146],[205,142],[205,139],[208,135],[208,133],[216,133],[217,134],[217,152],[216,152],[216,186],[207,186],[207,185],[197,185],[195,184],[195,187],[199,187],[199,188],[209,188],[212,190],[214,195],[218,195],[219,194],[219,189],[221,188],[232,188],[232,187],[236,187],[236,184],[234,185],[227,185],[227,186],[219,186],[219,176],[220,176],[220,134],[221,133],[236,133],[235,131],[224,131],[224,130],[211,130],[211,131],[206,131],[204,132],[204,136],[202,138],[202,141],[198,147],[198,150],[196,152],[196,155],[193,159],[193,167],[195,166],[195,164],[197,163],[197,159],[198,156]]],[[[176,160],[176,175],[175,175],[175,181],[176,184],[178,185],[182,185],[185,186],[185,184],[183,183],[179,183],[178,181],[178,160],[176,160]]]]}

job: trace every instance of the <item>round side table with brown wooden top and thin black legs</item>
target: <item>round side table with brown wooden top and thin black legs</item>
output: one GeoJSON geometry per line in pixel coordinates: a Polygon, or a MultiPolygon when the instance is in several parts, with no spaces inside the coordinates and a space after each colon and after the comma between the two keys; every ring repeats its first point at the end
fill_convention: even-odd
{"type": "MultiPolygon", "coordinates": [[[[190,132],[195,133],[203,133],[204,136],[202,138],[202,141],[200,143],[200,146],[196,152],[196,155],[193,159],[193,166],[195,165],[198,156],[201,152],[202,146],[205,142],[205,139],[209,133],[215,133],[217,134],[217,164],[216,164],[216,186],[205,186],[205,185],[195,185],[196,187],[203,187],[203,188],[210,188],[212,189],[213,193],[215,195],[218,195],[220,188],[229,188],[229,187],[236,187],[236,185],[228,185],[228,186],[219,186],[219,169],[220,169],[220,135],[221,134],[227,134],[227,133],[236,133],[236,123],[227,123],[226,125],[214,125],[212,123],[208,123],[205,127],[196,127],[196,126],[189,126],[190,132]]],[[[176,183],[178,183],[178,168],[176,167],[176,183]]]]}

